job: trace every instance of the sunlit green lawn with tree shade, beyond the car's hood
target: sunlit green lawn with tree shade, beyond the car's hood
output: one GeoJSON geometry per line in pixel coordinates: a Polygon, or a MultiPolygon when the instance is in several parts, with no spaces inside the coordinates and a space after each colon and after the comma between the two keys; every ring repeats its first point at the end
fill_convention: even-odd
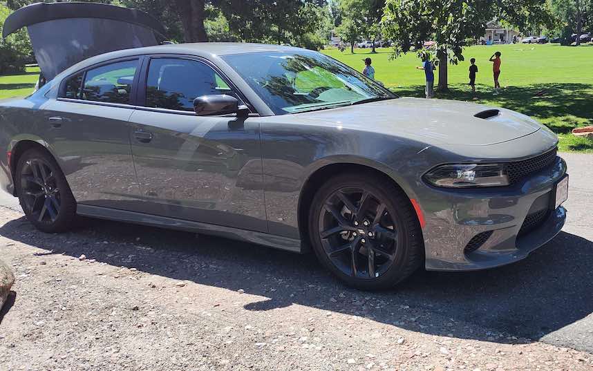
{"type": "MultiPolygon", "coordinates": [[[[391,59],[390,49],[356,49],[341,53],[325,50],[357,70],[364,68],[363,59],[373,59],[375,78],[398,95],[423,97],[424,71],[416,70],[421,62],[415,53],[391,59]]],[[[516,44],[473,46],[464,52],[466,61],[449,65],[449,88],[437,98],[459,99],[492,106],[502,106],[535,117],[561,137],[562,151],[593,153],[593,140],[579,138],[571,131],[577,126],[593,124],[593,45],[570,47],[559,45],[516,44]],[[489,58],[502,53],[502,91],[493,95],[492,64],[489,58]],[[471,93],[469,59],[476,58],[480,69],[476,79],[478,93],[471,93]],[[540,93],[536,95],[536,93],[540,93]],[[477,98],[477,99],[474,99],[477,98]]],[[[437,78],[437,77],[436,77],[437,78]]]]}

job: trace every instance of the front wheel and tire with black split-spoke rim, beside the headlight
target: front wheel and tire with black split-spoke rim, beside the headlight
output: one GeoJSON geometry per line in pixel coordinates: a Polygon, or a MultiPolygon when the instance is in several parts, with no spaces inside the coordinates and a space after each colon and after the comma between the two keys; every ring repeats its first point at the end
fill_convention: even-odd
{"type": "Polygon", "coordinates": [[[373,173],[338,175],[323,184],[308,227],[321,264],[357,289],[392,288],[424,261],[422,229],[410,200],[373,173]]]}

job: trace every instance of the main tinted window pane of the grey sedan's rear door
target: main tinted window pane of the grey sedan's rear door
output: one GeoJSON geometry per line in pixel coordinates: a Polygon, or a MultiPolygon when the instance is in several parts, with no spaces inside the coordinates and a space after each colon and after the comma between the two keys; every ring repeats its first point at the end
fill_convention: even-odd
{"type": "Polygon", "coordinates": [[[137,68],[138,60],[135,60],[88,70],[84,78],[81,99],[128,104],[137,68]]]}

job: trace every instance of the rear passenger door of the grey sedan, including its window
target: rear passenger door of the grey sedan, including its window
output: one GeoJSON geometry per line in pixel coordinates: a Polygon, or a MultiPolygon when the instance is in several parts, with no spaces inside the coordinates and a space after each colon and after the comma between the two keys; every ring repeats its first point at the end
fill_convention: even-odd
{"type": "Polygon", "coordinates": [[[138,58],[68,77],[44,110],[45,137],[79,203],[131,209],[140,202],[130,149],[138,58]]]}

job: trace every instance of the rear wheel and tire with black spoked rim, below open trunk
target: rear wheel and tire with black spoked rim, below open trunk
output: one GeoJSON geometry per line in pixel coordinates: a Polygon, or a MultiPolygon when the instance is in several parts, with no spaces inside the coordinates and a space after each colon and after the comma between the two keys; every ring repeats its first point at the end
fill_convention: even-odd
{"type": "Polygon", "coordinates": [[[42,149],[30,149],[17,162],[15,187],[27,219],[40,231],[70,229],[76,200],[55,159],[42,149]]]}

